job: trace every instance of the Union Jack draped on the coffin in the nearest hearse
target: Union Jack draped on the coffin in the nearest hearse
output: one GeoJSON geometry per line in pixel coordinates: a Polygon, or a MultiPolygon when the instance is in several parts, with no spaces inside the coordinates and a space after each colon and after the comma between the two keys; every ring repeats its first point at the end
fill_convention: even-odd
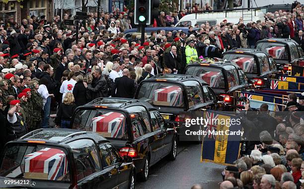
{"type": "Polygon", "coordinates": [[[24,157],[25,173],[47,174],[48,180],[58,180],[67,174],[66,154],[56,148],[44,148],[24,157]]]}

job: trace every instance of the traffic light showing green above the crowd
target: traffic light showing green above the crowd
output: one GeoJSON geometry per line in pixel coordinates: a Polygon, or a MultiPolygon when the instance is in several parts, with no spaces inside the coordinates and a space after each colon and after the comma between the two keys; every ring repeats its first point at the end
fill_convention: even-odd
{"type": "Polygon", "coordinates": [[[151,24],[151,0],[135,0],[134,23],[151,24]]]}

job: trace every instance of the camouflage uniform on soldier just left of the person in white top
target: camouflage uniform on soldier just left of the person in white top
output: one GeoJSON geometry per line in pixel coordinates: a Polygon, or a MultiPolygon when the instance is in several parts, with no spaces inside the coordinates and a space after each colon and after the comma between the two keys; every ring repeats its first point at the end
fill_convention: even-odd
{"type": "Polygon", "coordinates": [[[32,125],[30,127],[30,130],[38,129],[40,128],[42,114],[41,111],[43,110],[43,99],[41,95],[32,90],[31,91],[31,99],[30,104],[32,105],[32,125]]]}

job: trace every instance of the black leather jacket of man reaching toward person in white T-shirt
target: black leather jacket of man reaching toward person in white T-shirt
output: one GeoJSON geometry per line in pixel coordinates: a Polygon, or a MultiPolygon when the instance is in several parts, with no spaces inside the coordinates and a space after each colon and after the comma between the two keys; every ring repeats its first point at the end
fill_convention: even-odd
{"type": "Polygon", "coordinates": [[[87,86],[87,89],[92,91],[92,99],[108,97],[108,84],[103,76],[94,83],[94,87],[87,86]]]}

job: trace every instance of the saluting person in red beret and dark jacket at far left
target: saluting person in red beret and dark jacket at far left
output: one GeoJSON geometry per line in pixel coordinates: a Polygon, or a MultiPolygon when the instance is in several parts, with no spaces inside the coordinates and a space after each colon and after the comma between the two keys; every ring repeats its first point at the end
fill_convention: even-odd
{"type": "Polygon", "coordinates": [[[7,112],[7,137],[8,141],[19,138],[27,133],[27,127],[23,118],[19,115],[20,101],[12,100],[7,112]]]}

